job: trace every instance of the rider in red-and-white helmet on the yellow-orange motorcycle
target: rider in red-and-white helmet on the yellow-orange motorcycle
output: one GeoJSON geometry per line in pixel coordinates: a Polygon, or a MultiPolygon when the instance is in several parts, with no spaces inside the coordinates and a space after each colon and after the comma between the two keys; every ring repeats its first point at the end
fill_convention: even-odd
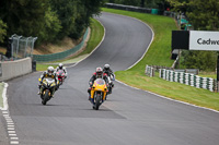
{"type": "MultiPolygon", "coordinates": [[[[103,69],[101,67],[96,68],[95,73],[91,76],[89,81],[90,88],[88,89],[89,93],[89,100],[91,100],[91,87],[93,86],[93,83],[96,78],[103,78],[106,82],[106,85],[108,84],[107,74],[103,73],[103,69]]],[[[93,100],[91,100],[93,102],[93,100]]]]}

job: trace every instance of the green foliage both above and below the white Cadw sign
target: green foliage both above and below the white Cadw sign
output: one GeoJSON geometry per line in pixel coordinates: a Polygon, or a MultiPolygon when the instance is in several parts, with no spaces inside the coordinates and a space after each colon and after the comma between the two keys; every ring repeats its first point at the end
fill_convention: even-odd
{"type": "MultiPolygon", "coordinates": [[[[188,17],[195,31],[219,31],[218,0],[168,0],[174,10],[183,12],[188,17]]],[[[197,68],[215,71],[217,53],[212,51],[184,51],[183,64],[186,68],[197,68]]]]}

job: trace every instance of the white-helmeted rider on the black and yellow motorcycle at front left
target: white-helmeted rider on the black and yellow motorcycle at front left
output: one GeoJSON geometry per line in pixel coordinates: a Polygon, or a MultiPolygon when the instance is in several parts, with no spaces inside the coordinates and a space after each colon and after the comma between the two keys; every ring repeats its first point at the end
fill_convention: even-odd
{"type": "Polygon", "coordinates": [[[41,75],[41,82],[39,82],[39,85],[38,85],[38,88],[39,88],[38,95],[41,95],[42,92],[43,92],[42,84],[43,84],[43,80],[45,77],[49,77],[49,78],[54,78],[55,80],[56,87],[54,87],[54,90],[51,90],[51,96],[53,96],[54,93],[55,93],[55,90],[58,89],[58,84],[57,84],[58,83],[58,77],[57,77],[55,69],[53,67],[48,67],[47,71],[45,71],[45,72],[42,73],[42,75],[41,75]]]}

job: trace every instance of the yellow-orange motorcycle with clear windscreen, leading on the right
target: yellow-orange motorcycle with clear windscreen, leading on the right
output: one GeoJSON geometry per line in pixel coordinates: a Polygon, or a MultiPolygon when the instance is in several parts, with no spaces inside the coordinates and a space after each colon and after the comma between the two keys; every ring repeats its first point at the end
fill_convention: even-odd
{"type": "Polygon", "coordinates": [[[93,109],[99,110],[99,107],[104,102],[106,97],[107,86],[104,80],[96,78],[91,87],[91,102],[93,109]]]}

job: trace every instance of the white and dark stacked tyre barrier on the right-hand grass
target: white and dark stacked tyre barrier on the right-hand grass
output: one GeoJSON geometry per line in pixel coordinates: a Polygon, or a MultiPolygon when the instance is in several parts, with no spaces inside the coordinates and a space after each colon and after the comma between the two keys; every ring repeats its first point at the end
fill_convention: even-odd
{"type": "Polygon", "coordinates": [[[170,81],[178,82],[197,88],[205,88],[210,92],[217,90],[217,81],[210,77],[200,77],[192,73],[174,72],[166,69],[160,69],[159,77],[170,81]]]}

